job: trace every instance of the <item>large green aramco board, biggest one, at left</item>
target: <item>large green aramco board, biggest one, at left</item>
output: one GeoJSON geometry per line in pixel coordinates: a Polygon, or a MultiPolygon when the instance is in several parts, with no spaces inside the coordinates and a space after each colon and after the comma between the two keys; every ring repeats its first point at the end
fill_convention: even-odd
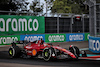
{"type": "Polygon", "coordinates": [[[44,33],[45,22],[42,16],[0,15],[0,34],[44,33]]]}

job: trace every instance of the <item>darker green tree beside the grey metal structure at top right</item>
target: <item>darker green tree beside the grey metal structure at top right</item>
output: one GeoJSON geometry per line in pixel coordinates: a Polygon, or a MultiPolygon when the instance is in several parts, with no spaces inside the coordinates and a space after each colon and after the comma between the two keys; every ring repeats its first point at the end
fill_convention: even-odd
{"type": "Polygon", "coordinates": [[[68,4],[71,6],[72,13],[89,13],[89,7],[84,4],[85,1],[86,0],[68,0],[68,4]]]}

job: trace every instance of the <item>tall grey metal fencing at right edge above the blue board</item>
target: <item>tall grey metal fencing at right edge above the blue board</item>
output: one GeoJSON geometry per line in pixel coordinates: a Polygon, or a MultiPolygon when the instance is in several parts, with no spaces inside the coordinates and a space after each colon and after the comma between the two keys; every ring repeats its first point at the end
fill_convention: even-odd
{"type": "Polygon", "coordinates": [[[89,5],[89,30],[91,36],[100,36],[100,0],[87,0],[89,5]]]}

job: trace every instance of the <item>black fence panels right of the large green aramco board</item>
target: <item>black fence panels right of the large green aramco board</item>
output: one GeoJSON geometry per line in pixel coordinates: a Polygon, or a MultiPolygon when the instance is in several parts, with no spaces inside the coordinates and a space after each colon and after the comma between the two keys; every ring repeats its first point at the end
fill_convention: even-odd
{"type": "Polygon", "coordinates": [[[45,17],[45,33],[88,33],[89,18],[74,21],[71,17],[45,17]]]}

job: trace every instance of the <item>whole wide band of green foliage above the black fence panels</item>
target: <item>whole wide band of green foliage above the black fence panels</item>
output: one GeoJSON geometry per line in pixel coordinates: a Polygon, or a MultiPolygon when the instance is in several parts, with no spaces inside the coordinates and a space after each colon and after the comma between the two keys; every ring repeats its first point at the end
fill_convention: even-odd
{"type": "Polygon", "coordinates": [[[51,11],[52,13],[87,13],[88,10],[85,10],[84,1],[85,0],[55,0],[51,11]]]}

